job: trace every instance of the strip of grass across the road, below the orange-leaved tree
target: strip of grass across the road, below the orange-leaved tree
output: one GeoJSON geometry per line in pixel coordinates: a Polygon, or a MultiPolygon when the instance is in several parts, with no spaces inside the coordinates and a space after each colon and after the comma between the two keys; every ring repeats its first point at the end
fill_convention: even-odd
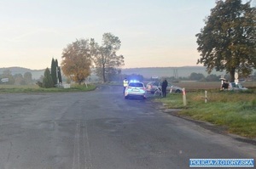
{"type": "Polygon", "coordinates": [[[41,88],[37,85],[0,85],[0,93],[61,93],[61,92],[86,92],[96,89],[95,85],[72,85],[70,88],[41,88]]]}

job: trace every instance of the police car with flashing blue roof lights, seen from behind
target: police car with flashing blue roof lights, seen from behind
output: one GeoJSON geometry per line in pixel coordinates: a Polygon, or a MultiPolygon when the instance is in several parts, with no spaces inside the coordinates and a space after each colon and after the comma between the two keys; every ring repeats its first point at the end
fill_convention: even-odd
{"type": "Polygon", "coordinates": [[[146,87],[143,82],[129,82],[125,88],[125,99],[142,98],[146,99],[146,87]]]}

